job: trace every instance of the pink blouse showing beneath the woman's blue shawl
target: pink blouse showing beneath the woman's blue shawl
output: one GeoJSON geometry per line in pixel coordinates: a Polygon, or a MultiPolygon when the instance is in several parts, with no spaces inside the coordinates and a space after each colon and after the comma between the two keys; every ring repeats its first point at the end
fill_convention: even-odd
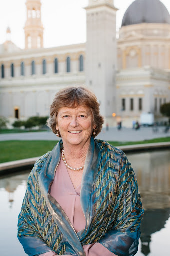
{"type": "MultiPolygon", "coordinates": [[[[75,189],[67,168],[62,160],[56,169],[54,181],[50,188],[50,194],[60,204],[66,215],[68,216],[75,231],[78,232],[85,228],[85,217],[80,204],[80,189],[81,184],[75,189]]],[[[116,256],[110,252],[100,243],[93,243],[83,246],[86,256],[116,256]]],[[[53,256],[57,255],[55,252],[50,251],[40,256],[53,256]]],[[[71,256],[68,255],[67,256],[71,256]]]]}

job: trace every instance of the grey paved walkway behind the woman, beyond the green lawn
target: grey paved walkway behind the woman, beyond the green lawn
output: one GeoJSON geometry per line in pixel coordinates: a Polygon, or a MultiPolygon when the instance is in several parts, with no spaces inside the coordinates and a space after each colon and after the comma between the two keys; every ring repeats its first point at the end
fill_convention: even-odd
{"type": "MultiPolygon", "coordinates": [[[[97,136],[106,141],[143,141],[147,139],[170,137],[170,131],[164,133],[164,127],[159,127],[158,132],[154,132],[152,127],[141,127],[139,130],[123,127],[120,131],[116,127],[110,127],[108,131],[102,129],[97,136]]],[[[5,140],[58,140],[52,131],[26,132],[0,134],[0,141],[5,140]]]]}

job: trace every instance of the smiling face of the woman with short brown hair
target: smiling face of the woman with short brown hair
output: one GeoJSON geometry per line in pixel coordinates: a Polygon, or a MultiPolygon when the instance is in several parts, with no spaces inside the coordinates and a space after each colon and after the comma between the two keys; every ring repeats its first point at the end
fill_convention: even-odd
{"type": "Polygon", "coordinates": [[[56,129],[59,130],[63,143],[83,146],[90,140],[95,128],[93,115],[88,107],[62,107],[58,111],[56,129]]]}

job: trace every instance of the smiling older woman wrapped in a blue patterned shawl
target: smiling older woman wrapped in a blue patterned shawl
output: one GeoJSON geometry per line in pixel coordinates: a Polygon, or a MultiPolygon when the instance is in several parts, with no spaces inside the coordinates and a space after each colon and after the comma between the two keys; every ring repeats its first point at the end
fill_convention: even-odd
{"type": "Polygon", "coordinates": [[[18,222],[30,256],[132,256],[143,208],[126,155],[94,139],[103,117],[84,87],[59,91],[48,126],[62,139],[34,165],[18,222]]]}

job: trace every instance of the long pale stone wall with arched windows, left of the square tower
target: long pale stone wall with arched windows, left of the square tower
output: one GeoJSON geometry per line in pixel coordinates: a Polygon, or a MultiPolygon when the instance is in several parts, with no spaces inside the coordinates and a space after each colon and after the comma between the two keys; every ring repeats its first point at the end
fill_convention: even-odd
{"type": "Polygon", "coordinates": [[[4,65],[5,78],[0,80],[0,115],[11,119],[49,115],[49,106],[59,89],[69,85],[85,84],[84,71],[79,71],[80,56],[84,60],[85,44],[50,49],[27,49],[3,54],[0,64],[4,65]],[[69,72],[67,72],[67,57],[70,57],[69,72]],[[56,70],[55,59],[57,59],[56,70]],[[34,74],[32,74],[33,61],[34,74]],[[12,63],[14,77],[11,77],[12,63]],[[22,63],[24,63],[24,73],[21,75],[22,63]],[[45,72],[43,72],[44,66],[45,72]]]}

